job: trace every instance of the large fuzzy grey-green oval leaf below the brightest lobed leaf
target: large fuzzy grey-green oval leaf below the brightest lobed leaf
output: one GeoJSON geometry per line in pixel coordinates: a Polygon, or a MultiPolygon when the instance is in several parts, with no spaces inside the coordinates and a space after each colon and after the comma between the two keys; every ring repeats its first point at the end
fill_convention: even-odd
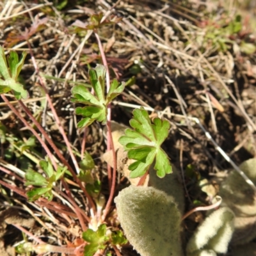
{"type": "Polygon", "coordinates": [[[154,188],[125,188],[115,198],[118,219],[141,256],[182,256],[180,212],[172,196],[154,188]]]}

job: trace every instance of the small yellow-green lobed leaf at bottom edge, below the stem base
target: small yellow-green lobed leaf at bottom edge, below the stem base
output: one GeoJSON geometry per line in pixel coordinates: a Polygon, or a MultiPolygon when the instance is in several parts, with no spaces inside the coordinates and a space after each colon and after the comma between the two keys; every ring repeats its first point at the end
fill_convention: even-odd
{"type": "Polygon", "coordinates": [[[84,247],[84,256],[93,256],[97,250],[106,248],[106,241],[109,240],[106,232],[107,227],[105,224],[100,225],[97,231],[88,228],[83,232],[83,239],[90,243],[84,247]]]}

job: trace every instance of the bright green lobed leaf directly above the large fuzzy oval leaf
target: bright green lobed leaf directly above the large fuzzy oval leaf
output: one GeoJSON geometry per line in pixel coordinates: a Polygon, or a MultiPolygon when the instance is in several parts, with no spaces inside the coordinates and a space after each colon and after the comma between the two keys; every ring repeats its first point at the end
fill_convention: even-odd
{"type": "Polygon", "coordinates": [[[155,160],[154,169],[157,176],[172,172],[172,166],[168,156],[161,148],[161,144],[168,136],[170,124],[166,120],[155,118],[153,124],[145,109],[135,109],[133,118],[130,120],[131,127],[135,130],[126,129],[125,136],[120,137],[119,142],[128,151],[128,158],[135,162],[129,165],[130,177],[141,177],[147,172],[155,160]]]}

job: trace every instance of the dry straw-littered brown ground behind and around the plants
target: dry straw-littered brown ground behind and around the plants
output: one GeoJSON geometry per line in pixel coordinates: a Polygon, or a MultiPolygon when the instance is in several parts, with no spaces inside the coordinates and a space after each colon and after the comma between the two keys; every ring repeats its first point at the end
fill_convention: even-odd
{"type": "MultiPolygon", "coordinates": [[[[134,105],[154,109],[150,111],[152,116],[159,113],[170,120],[172,128],[164,149],[172,163],[185,172],[184,181],[191,201],[207,203],[205,196],[193,193],[198,179],[230,169],[230,164],[207,140],[202,129],[191,121],[191,117],[200,120],[236,164],[256,156],[256,54],[255,37],[248,19],[248,15],[255,15],[255,6],[250,7],[250,13],[244,8],[241,21],[237,19],[235,22],[237,10],[231,1],[229,6],[222,7],[211,1],[121,0],[113,9],[111,6],[115,3],[110,0],[67,1],[63,8],[61,3],[65,1],[54,3],[11,0],[1,3],[0,45],[4,45],[6,53],[11,49],[19,53],[28,52],[20,74],[29,92],[29,99],[24,103],[65,159],[74,166],[49,104],[45,102],[45,93],[40,87],[28,44],[20,37],[26,29],[32,31],[32,24],[40,19],[42,28],[35,33],[32,31],[29,36],[38,70],[77,161],[80,161],[79,152],[86,141],[86,150],[95,159],[94,172],[102,181],[102,193],[106,198],[106,163],[100,160],[106,151],[102,126],[93,124],[79,131],[76,124],[80,117],[74,114],[74,104],[70,103],[74,82],[88,83],[88,67],[101,63],[95,36],[92,34],[84,40],[84,33],[74,34],[70,30],[70,25],[76,20],[86,22],[93,13],[106,14],[111,10],[113,15],[122,18],[116,24],[99,29],[99,35],[111,76],[125,82],[134,77],[134,84],[127,86],[113,102],[112,120],[128,125],[134,105]],[[241,26],[239,32],[234,30],[237,23],[241,26]],[[189,167],[192,170],[190,176],[186,172],[189,167]]],[[[10,94],[6,97],[15,100],[10,94]]],[[[12,104],[29,121],[19,104],[15,101],[12,104]]],[[[31,133],[1,98],[0,122],[8,137],[1,141],[0,166],[1,171],[3,168],[9,171],[1,172],[1,180],[25,189],[12,173],[18,173],[17,169],[27,170],[28,166],[35,169],[36,160],[44,157],[45,152],[39,143],[33,150],[24,148],[20,152],[21,144],[30,138],[31,133]]],[[[77,204],[83,205],[84,211],[88,212],[83,192],[74,190],[73,193],[79,198],[77,204]]],[[[15,205],[19,209],[22,207],[20,211],[24,218],[28,219],[30,212],[34,217],[39,216],[37,219],[45,220],[45,225],[37,223],[36,230],[32,232],[47,243],[72,243],[79,237],[76,216],[70,215],[65,219],[64,215],[55,214],[54,204],[49,209],[35,203],[27,204],[22,196],[3,184],[0,200],[2,210],[6,205],[15,205]]],[[[193,205],[188,198],[187,201],[188,211],[193,205]]],[[[65,207],[63,209],[69,211],[65,207]]],[[[0,223],[3,223],[6,216],[0,218],[0,223]]],[[[20,220],[24,218],[20,217],[20,220]]],[[[195,218],[191,220],[196,221],[195,218]]],[[[7,228],[3,234],[0,232],[5,248],[22,240],[20,233],[10,224],[7,222],[1,227],[7,228]]],[[[194,227],[191,223],[189,225],[194,227]]],[[[3,253],[7,253],[7,249],[3,253]]]]}

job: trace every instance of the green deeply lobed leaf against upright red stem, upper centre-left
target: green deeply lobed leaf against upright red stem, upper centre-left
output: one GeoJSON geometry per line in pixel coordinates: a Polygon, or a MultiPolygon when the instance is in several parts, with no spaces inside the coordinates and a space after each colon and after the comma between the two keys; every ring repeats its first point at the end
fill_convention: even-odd
{"type": "Polygon", "coordinates": [[[106,124],[108,116],[108,104],[117,95],[123,92],[125,83],[118,83],[116,79],[110,84],[109,92],[105,95],[106,68],[97,65],[96,68],[89,70],[90,83],[95,92],[93,95],[84,85],[77,85],[72,88],[71,102],[82,103],[86,106],[76,108],[76,115],[84,118],[78,122],[79,128],[86,127],[94,121],[106,124]]]}

